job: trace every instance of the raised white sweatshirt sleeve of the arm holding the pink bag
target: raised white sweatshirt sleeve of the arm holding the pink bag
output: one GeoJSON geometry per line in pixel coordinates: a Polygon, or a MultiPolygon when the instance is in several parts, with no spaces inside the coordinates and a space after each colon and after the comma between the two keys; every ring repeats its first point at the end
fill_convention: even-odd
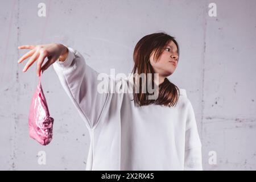
{"type": "MultiPolygon", "coordinates": [[[[53,63],[65,92],[71,98],[88,129],[93,129],[99,121],[108,93],[97,92],[98,72],[86,64],[84,57],[76,49],[68,47],[68,57],[53,63]]],[[[109,88],[106,88],[109,89],[109,88]]]]}

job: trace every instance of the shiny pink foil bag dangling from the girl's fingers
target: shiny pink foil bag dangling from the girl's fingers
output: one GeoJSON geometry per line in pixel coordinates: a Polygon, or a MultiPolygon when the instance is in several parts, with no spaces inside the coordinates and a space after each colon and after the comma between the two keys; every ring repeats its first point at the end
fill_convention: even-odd
{"type": "Polygon", "coordinates": [[[54,119],[49,116],[46,97],[44,97],[41,85],[41,75],[42,71],[39,76],[38,86],[36,87],[36,91],[32,97],[28,117],[28,127],[30,137],[38,141],[43,146],[46,146],[52,140],[54,119]]]}

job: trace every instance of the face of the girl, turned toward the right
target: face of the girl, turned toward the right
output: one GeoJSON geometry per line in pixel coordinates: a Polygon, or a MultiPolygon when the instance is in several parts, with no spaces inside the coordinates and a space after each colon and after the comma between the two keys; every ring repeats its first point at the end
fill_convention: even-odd
{"type": "Polygon", "coordinates": [[[150,64],[155,73],[159,73],[159,79],[162,82],[164,78],[172,75],[177,67],[177,46],[173,41],[167,44],[159,60],[154,60],[154,53],[151,53],[150,64]]]}

